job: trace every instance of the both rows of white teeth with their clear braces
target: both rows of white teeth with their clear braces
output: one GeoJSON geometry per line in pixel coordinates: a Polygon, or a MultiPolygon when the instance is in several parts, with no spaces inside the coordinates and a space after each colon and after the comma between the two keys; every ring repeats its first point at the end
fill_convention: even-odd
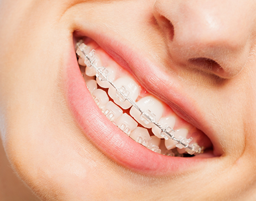
{"type": "MultiPolygon", "coordinates": [[[[192,138],[186,139],[187,129],[179,129],[176,132],[173,127],[175,118],[173,116],[162,117],[164,108],[161,101],[153,95],[145,96],[135,102],[140,94],[140,86],[132,77],[116,78],[116,69],[113,67],[103,67],[101,60],[95,55],[95,50],[90,51],[90,47],[83,44],[82,41],[77,43],[77,55],[80,56],[79,63],[86,66],[83,74],[88,90],[93,99],[106,117],[116,124],[124,133],[129,135],[138,143],[147,146],[147,148],[160,153],[160,138],[165,138],[165,146],[168,150],[173,148],[183,149],[189,154],[200,154],[202,148],[196,143],[189,145],[192,138]],[[123,113],[112,101],[109,101],[108,95],[102,89],[97,89],[95,80],[88,79],[86,76],[95,76],[97,84],[102,88],[109,88],[108,95],[113,101],[124,109],[130,109],[130,115],[146,128],[152,128],[156,137],[150,137],[148,130],[137,127],[138,123],[134,119],[123,113]]],[[[170,154],[172,155],[172,154],[170,154]]]]}

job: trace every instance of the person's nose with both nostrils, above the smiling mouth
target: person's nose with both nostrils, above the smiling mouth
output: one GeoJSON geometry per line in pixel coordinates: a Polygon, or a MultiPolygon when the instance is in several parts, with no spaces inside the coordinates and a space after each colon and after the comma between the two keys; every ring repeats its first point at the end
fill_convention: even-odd
{"type": "Polygon", "coordinates": [[[255,30],[253,1],[156,0],[154,17],[171,59],[221,78],[247,62],[255,30]]]}

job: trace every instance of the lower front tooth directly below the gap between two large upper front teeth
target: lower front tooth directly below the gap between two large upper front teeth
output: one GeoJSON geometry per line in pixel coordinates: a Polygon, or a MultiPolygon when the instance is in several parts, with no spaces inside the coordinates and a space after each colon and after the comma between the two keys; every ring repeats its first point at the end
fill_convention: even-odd
{"type": "Polygon", "coordinates": [[[123,113],[123,115],[117,119],[116,124],[128,136],[130,135],[130,132],[138,126],[138,123],[135,122],[132,117],[127,115],[127,113],[123,113]]]}

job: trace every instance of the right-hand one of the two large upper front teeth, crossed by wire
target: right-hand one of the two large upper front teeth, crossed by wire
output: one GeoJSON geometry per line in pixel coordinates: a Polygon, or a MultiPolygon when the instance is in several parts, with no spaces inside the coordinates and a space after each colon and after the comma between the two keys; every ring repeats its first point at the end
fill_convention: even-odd
{"type": "MultiPolygon", "coordinates": [[[[155,122],[158,122],[163,115],[163,105],[152,95],[143,97],[137,102],[137,105],[155,122]]],[[[130,108],[130,115],[146,128],[152,128],[154,126],[154,124],[149,123],[150,121],[147,121],[147,118],[145,118],[145,116],[142,115],[142,113],[140,113],[134,106],[130,108]]]]}

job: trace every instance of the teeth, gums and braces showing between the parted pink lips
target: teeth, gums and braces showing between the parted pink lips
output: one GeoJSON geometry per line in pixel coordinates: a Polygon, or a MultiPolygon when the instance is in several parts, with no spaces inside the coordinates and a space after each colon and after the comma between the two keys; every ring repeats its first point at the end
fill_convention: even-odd
{"type": "Polygon", "coordinates": [[[193,137],[187,138],[188,129],[174,130],[175,122],[181,120],[173,111],[142,90],[127,70],[109,61],[111,58],[94,41],[86,41],[87,45],[83,40],[76,44],[80,70],[96,105],[109,121],[156,153],[180,157],[203,153],[203,146],[191,143],[193,137]]]}

